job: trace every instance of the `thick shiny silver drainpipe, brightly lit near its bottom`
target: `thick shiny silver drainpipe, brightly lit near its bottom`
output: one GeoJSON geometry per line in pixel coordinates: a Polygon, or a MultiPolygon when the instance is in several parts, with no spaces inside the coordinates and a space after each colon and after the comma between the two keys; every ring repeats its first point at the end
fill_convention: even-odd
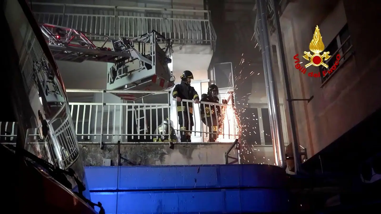
{"type": "Polygon", "coordinates": [[[269,106],[272,145],[274,147],[275,164],[286,168],[285,146],[283,142],[282,122],[277,86],[274,78],[271,60],[271,46],[267,29],[266,1],[256,0],[257,18],[259,18],[259,37],[261,42],[263,71],[266,84],[266,95],[269,106]]]}

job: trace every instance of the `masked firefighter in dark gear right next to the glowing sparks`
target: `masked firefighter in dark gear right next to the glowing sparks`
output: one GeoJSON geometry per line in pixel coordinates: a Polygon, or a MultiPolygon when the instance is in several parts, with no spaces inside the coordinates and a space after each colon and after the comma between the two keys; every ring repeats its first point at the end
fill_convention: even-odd
{"type": "MultiPolygon", "coordinates": [[[[212,84],[208,88],[207,94],[201,95],[201,102],[215,102],[218,103],[218,87],[212,84]]],[[[218,128],[221,123],[221,108],[219,105],[200,104],[200,115],[202,122],[209,127],[209,142],[216,142],[218,135],[218,128]]]]}

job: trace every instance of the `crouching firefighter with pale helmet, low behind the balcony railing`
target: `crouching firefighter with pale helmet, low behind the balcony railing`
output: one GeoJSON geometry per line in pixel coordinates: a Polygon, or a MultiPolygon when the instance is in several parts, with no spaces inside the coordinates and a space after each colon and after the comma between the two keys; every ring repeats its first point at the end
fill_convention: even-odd
{"type": "Polygon", "coordinates": [[[170,145],[169,148],[174,148],[173,143],[177,142],[177,137],[174,132],[172,121],[168,120],[168,118],[156,128],[154,134],[154,142],[168,142],[170,145]]]}

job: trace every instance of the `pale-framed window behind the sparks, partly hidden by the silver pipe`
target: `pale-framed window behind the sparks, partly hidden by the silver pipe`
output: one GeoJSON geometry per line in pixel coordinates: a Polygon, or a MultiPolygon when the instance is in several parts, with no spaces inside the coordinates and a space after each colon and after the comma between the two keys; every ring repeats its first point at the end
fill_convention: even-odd
{"type": "MultiPolygon", "coordinates": [[[[251,104],[241,113],[242,140],[253,145],[272,145],[270,116],[267,104],[251,104]]],[[[280,105],[280,117],[285,145],[288,144],[287,127],[283,105],[280,105]]]]}

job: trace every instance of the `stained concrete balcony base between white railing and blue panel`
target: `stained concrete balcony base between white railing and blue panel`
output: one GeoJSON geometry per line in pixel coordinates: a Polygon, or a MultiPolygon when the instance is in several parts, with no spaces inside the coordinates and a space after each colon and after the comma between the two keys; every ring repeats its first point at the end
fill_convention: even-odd
{"type": "MultiPolygon", "coordinates": [[[[174,149],[168,145],[120,145],[121,156],[126,160],[121,165],[187,165],[187,164],[224,164],[224,154],[230,145],[175,145],[174,149]],[[130,163],[129,163],[130,161],[130,163]]],[[[118,163],[117,145],[99,144],[80,145],[85,166],[101,166],[104,158],[118,163]]],[[[231,153],[237,157],[237,152],[231,153]]]]}

